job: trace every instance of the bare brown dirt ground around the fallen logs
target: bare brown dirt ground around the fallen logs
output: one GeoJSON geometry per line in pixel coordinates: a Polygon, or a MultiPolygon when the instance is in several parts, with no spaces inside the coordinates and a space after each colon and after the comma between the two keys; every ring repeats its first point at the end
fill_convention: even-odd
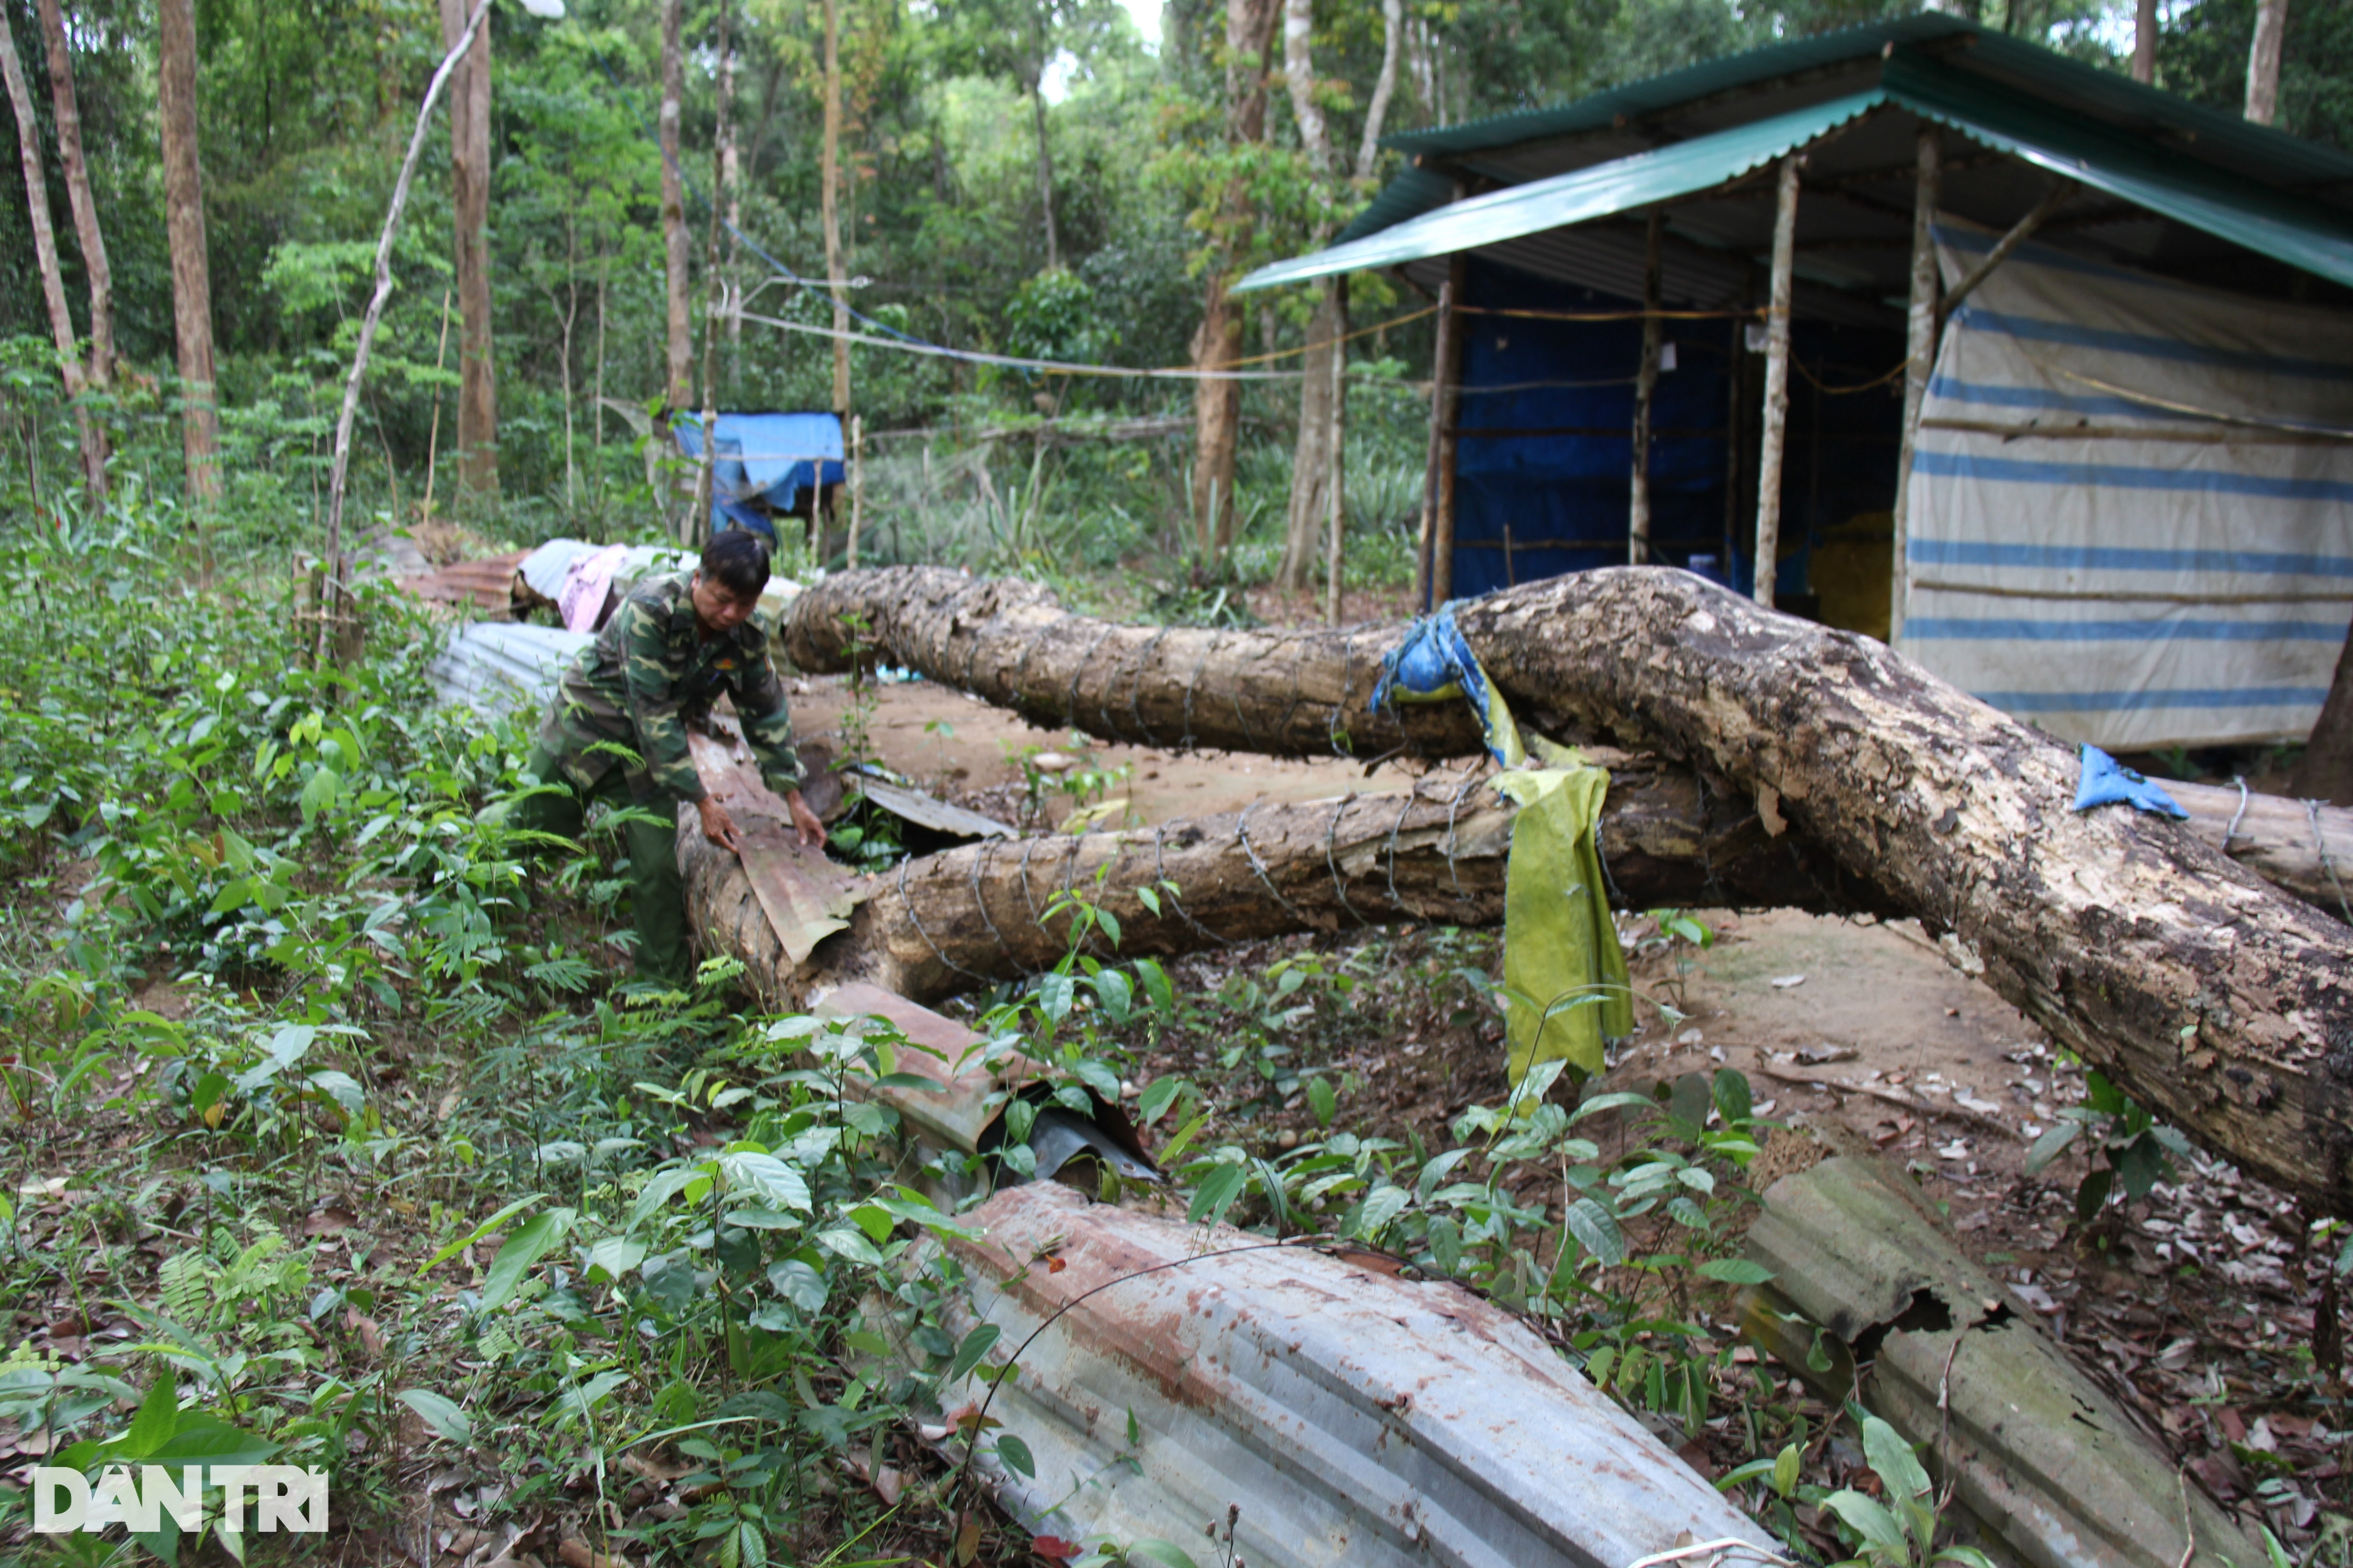
{"type": "MultiPolygon", "coordinates": [[[[793,703],[802,733],[838,729],[849,705],[840,679],[798,682],[793,703]]],[[[1341,759],[1094,745],[929,682],[880,686],[866,722],[889,766],[1021,825],[1052,827],[1078,804],[1054,776],[1028,804],[1026,748],[1096,771],[1129,769],[1101,788],[1101,797],[1125,799],[1127,823],[1238,811],[1252,799],[1398,790],[1409,778],[1393,764],[1367,776],[1341,759]]],[[[1682,947],[1682,957],[1654,940],[1654,922],[1624,922],[1638,985],[1680,999],[1685,1020],[1671,1034],[1659,1025],[1638,1032],[1605,1086],[1739,1067],[1760,1112],[1793,1128],[1767,1145],[1758,1187],[1812,1164],[1821,1147],[1875,1147],[1904,1164],[1944,1206],[1962,1251],[2012,1281],[2193,1481],[2249,1523],[2278,1530],[2299,1561],[2320,1561],[2329,1514],[2344,1514],[2353,1490],[2344,1385],[2315,1373],[2311,1349],[2315,1316],[2332,1312],[2320,1302],[2334,1244],[2322,1248],[2292,1201],[2202,1154],[2177,1161],[2174,1180],[2151,1201],[2111,1204],[2080,1227],[2075,1185],[2087,1157],[2061,1157],[2038,1175],[2021,1161],[2057,1112],[2082,1100],[2082,1070],[1946,964],[1918,924],[1786,910],[1699,917],[1715,943],[1697,954],[1682,947]]],[[[1360,938],[1294,947],[1344,950],[1348,940],[1360,938]]],[[[1402,933],[1391,961],[1417,961],[1431,940],[1402,933]]],[[[1217,992],[1280,945],[1261,947],[1186,959],[1174,966],[1176,983],[1217,992]]],[[[1200,1072],[1212,1056],[1195,1046],[1153,1067],[1200,1072]]],[[[1459,1011],[1449,1023],[1435,1001],[1421,1027],[1353,1041],[1346,1060],[1329,1065],[1360,1084],[1351,1114],[1400,1133],[1435,1131],[1466,1105],[1501,1095],[1492,1025],[1464,1025],[1459,1011]]],[[[1261,1112],[1271,1147],[1313,1135],[1297,1095],[1261,1112]]]]}

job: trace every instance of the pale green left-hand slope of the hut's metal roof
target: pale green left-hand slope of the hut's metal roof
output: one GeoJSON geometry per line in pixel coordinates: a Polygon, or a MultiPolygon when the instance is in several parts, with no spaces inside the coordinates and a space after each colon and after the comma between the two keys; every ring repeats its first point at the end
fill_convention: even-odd
{"type": "Polygon", "coordinates": [[[1294,256],[1261,266],[1233,287],[1235,294],[1249,289],[1273,289],[1308,277],[1332,273],[1358,273],[1365,268],[1421,261],[1424,256],[1447,256],[1454,252],[1518,240],[1546,228],[1565,228],[1588,219],[1607,219],[1633,207],[1671,202],[1678,195],[1713,190],[1729,179],[1781,158],[1791,148],[1802,148],[1824,132],[1871,110],[1885,99],[1882,92],[1859,92],[1831,103],[1814,103],[1786,115],[1739,125],[1713,136],[1694,136],[1652,153],[1635,153],[1593,169],[1555,174],[1525,186],[1506,186],[1466,202],[1449,202],[1407,223],[1384,228],[1377,235],[1334,244],[1313,256],[1294,256]]]}

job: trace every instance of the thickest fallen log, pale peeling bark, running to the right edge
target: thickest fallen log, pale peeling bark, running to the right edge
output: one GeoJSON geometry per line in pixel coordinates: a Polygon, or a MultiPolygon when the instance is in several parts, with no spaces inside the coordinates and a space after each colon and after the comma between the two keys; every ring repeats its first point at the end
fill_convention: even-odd
{"type": "Polygon", "coordinates": [[[1513,698],[1753,790],[2153,1112],[2353,1211],[2353,929],[2181,823],[2071,811],[2073,748],[1885,644],[1689,574],[1586,571],[1459,618],[1513,698]]]}

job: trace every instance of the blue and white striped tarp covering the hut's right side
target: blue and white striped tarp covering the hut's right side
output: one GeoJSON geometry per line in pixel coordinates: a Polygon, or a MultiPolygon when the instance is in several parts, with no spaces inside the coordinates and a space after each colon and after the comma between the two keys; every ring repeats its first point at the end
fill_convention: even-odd
{"type": "MultiPolygon", "coordinates": [[[[1937,240],[1946,287],[1993,244],[1937,240]]],[[[2021,247],[1937,355],[1906,585],[1906,654],[2068,741],[2301,741],[2353,621],[2353,315],[2021,247]]]]}

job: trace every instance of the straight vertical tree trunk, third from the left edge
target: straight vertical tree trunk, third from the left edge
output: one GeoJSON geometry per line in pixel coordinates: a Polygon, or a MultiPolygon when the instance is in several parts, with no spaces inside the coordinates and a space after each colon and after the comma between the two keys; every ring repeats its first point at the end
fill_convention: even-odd
{"type": "Polygon", "coordinates": [[[212,402],[212,263],[205,259],[205,176],[195,153],[195,0],[155,0],[155,118],[162,122],[162,200],[172,235],[181,451],[188,494],[216,501],[221,416],[212,402]]]}

